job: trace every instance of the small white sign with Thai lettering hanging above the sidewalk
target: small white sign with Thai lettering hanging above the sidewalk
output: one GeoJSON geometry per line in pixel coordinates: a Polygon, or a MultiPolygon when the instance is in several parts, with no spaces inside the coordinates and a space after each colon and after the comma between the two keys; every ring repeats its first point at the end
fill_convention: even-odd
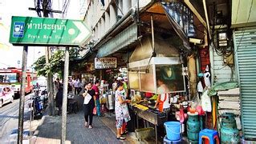
{"type": "Polygon", "coordinates": [[[114,69],[117,67],[117,58],[95,58],[95,69],[114,69]]]}

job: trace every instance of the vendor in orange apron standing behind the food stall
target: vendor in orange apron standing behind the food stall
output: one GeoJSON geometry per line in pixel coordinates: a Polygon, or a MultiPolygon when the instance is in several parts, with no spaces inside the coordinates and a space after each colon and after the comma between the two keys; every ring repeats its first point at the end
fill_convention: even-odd
{"type": "Polygon", "coordinates": [[[165,85],[162,78],[157,79],[157,94],[158,97],[156,99],[155,108],[158,106],[158,110],[161,112],[167,112],[169,110],[169,88],[165,85]]]}

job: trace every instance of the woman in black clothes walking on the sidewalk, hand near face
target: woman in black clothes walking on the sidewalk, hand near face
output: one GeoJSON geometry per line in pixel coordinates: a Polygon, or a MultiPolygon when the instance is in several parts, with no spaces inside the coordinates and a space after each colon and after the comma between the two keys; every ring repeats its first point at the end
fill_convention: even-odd
{"type": "Polygon", "coordinates": [[[91,82],[87,82],[86,86],[84,87],[83,92],[83,111],[84,111],[84,126],[88,127],[89,129],[92,128],[92,117],[93,117],[93,108],[95,107],[94,101],[95,90],[91,89],[91,82]],[[89,118],[89,121],[88,121],[89,118]]]}

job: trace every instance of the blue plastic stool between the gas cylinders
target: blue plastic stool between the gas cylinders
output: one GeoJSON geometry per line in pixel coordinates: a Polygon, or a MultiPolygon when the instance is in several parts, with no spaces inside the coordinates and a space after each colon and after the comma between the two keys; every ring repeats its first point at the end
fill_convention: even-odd
{"type": "Polygon", "coordinates": [[[206,139],[205,143],[214,144],[214,140],[216,141],[217,144],[220,143],[218,138],[218,133],[215,130],[209,130],[209,129],[201,130],[199,133],[199,144],[202,143],[203,138],[206,139]]]}

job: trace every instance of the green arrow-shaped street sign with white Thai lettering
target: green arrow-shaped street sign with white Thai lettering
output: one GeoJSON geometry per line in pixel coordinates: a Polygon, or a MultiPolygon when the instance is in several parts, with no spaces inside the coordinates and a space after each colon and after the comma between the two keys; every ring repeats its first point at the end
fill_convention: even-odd
{"type": "Polygon", "coordinates": [[[10,43],[30,46],[81,46],[91,36],[83,21],[13,16],[10,43]]]}

